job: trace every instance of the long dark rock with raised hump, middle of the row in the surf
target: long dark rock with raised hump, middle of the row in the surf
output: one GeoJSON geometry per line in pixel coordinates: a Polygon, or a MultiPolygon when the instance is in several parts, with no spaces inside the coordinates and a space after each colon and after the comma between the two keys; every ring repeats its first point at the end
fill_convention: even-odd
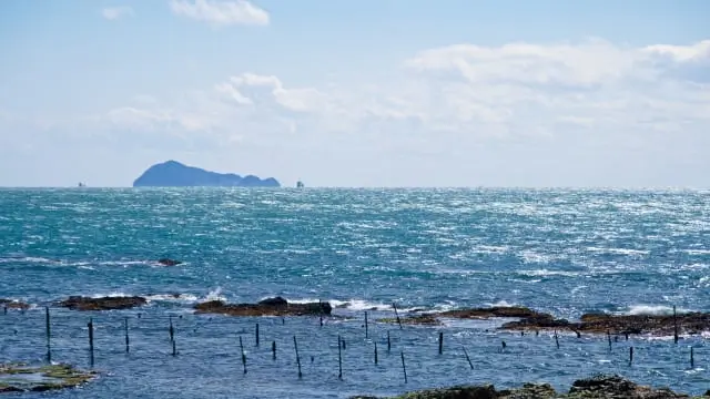
{"type": "Polygon", "coordinates": [[[219,314],[229,316],[318,316],[331,315],[329,303],[290,304],[282,297],[264,299],[257,304],[226,304],[211,300],[194,306],[197,314],[219,314]]]}

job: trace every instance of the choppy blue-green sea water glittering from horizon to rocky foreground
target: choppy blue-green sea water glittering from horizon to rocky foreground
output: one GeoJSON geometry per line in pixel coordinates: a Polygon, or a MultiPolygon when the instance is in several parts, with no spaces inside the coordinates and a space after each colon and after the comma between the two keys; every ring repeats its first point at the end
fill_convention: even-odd
{"type": "Polygon", "coordinates": [[[509,304],[568,319],[592,310],[708,311],[710,192],[0,190],[0,298],[37,306],[0,314],[0,362],[44,361],[43,306],[49,305],[52,360],[91,368],[87,323],[93,319],[93,369],[100,377],[52,393],[57,398],[346,398],[524,381],[565,390],[598,372],[702,393],[710,388],[708,335],[686,336],[678,345],[670,337],[631,337],[609,350],[606,337],[565,334],[557,349],[549,334],[497,331],[505,320],[403,329],[375,320],[392,317],[393,303],[402,314],[509,304]],[[185,264],[160,267],[161,257],[185,264]],[[52,305],[70,295],[151,300],[140,309],[108,313],[52,305]],[[329,300],[337,305],[334,314],[351,318],[326,319],[321,327],[317,317],[191,311],[206,299],[242,303],[277,295],[329,300]],[[342,380],[338,335],[346,342],[342,380]]]}

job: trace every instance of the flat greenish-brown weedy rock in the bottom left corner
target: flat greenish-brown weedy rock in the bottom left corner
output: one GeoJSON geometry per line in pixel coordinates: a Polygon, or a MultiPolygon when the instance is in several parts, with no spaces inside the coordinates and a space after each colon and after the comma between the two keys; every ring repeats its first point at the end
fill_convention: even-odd
{"type": "Polygon", "coordinates": [[[81,371],[70,365],[0,365],[0,393],[73,388],[94,377],[94,372],[81,371]]]}

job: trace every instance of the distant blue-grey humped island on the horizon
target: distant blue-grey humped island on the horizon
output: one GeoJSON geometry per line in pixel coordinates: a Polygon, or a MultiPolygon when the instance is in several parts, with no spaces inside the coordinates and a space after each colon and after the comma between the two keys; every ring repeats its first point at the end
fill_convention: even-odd
{"type": "Polygon", "coordinates": [[[233,173],[216,173],[176,161],[155,164],[133,182],[133,187],[280,187],[273,177],[261,180],[233,173]]]}

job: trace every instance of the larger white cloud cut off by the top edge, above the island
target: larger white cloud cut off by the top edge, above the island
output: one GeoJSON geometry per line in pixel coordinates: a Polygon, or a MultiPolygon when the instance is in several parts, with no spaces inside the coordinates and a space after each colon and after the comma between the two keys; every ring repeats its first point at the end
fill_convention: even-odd
{"type": "Polygon", "coordinates": [[[246,0],[171,0],[171,10],[212,25],[267,25],[268,13],[246,0]]]}

